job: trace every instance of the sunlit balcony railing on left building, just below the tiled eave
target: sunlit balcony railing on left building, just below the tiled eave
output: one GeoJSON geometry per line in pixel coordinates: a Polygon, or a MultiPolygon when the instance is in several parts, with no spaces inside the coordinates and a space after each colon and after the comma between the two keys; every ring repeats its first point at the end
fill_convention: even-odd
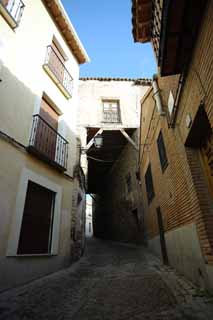
{"type": "Polygon", "coordinates": [[[73,78],[52,46],[47,47],[44,69],[48,72],[64,95],[67,98],[71,98],[73,78]]]}

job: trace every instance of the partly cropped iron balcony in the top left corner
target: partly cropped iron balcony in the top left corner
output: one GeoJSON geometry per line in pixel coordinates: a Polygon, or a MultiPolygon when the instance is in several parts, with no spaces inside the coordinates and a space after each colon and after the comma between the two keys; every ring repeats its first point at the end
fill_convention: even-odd
{"type": "Polygon", "coordinates": [[[0,0],[0,12],[12,28],[18,26],[24,7],[21,0],[0,0]]]}

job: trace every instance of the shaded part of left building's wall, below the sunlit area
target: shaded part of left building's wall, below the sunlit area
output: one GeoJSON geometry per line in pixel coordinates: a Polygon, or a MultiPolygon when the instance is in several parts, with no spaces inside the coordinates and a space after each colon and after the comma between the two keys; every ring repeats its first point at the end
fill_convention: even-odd
{"type": "MultiPolygon", "coordinates": [[[[0,291],[55,272],[70,264],[70,215],[72,186],[63,173],[26,152],[35,105],[40,101],[25,84],[5,66],[0,70],[0,291]],[[6,134],[6,135],[5,135],[6,134]],[[16,142],[17,141],[17,142],[16,142]],[[28,167],[49,180],[64,185],[60,215],[59,254],[43,257],[7,257],[8,239],[16,213],[16,196],[22,169],[28,167]],[[63,234],[63,237],[61,235],[63,234]]],[[[51,80],[50,80],[51,81],[51,80]]],[[[60,107],[60,106],[59,106],[60,107]]],[[[73,146],[76,135],[67,123],[66,139],[73,146]]],[[[70,161],[70,160],[69,160],[70,161]]],[[[68,166],[72,169],[72,163],[68,166]]],[[[73,163],[74,165],[74,163],[73,163]]],[[[72,175],[72,172],[68,172],[72,175]]]]}

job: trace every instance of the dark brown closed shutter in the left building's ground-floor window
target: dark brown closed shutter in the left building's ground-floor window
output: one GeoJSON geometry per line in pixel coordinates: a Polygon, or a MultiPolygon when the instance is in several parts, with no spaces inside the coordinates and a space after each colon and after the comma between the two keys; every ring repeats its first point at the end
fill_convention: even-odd
{"type": "Polygon", "coordinates": [[[29,181],[18,254],[50,252],[55,193],[29,181]]]}

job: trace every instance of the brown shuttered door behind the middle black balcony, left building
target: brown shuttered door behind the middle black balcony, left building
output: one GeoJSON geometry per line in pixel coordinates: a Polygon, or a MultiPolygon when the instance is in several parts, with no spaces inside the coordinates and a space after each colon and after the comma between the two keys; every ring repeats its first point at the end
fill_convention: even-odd
{"type": "Polygon", "coordinates": [[[40,117],[37,123],[35,146],[50,160],[55,160],[59,115],[42,99],[40,117]]]}

